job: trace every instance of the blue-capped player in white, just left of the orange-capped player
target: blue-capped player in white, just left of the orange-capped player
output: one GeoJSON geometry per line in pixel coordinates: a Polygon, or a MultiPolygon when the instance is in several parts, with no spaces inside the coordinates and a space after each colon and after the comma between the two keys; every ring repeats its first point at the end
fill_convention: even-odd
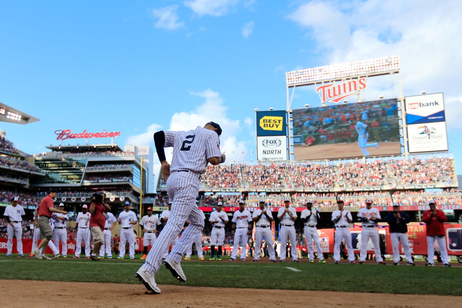
{"type": "Polygon", "coordinates": [[[120,226],[120,245],[119,256],[117,259],[123,259],[125,256],[125,245],[128,241],[130,259],[135,259],[135,234],[133,233],[133,225],[136,225],[138,218],[136,214],[130,210],[130,202],[124,204],[125,210],[119,214],[120,226]]]}

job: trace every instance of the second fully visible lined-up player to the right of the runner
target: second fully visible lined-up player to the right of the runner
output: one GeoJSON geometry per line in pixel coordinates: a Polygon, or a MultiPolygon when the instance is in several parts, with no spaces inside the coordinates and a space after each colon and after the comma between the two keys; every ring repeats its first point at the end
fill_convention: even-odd
{"type": "Polygon", "coordinates": [[[239,200],[239,209],[234,212],[231,222],[233,222],[231,234],[234,235],[234,248],[231,253],[230,261],[236,260],[237,251],[239,250],[239,241],[242,242],[241,261],[245,261],[247,241],[249,240],[249,235],[252,234],[253,222],[252,214],[245,209],[243,200],[239,200]]]}

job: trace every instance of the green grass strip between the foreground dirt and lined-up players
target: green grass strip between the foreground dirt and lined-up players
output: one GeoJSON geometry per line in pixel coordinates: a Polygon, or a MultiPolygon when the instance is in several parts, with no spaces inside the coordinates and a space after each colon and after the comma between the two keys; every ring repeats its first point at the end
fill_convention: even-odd
{"type": "MultiPolygon", "coordinates": [[[[138,257],[139,258],[139,257],[138,257]]],[[[197,257],[196,257],[197,258],[197,257]]],[[[156,282],[188,286],[283,290],[326,290],[461,296],[462,267],[182,261],[187,282],[179,283],[164,265],[156,282]]],[[[0,256],[2,279],[140,284],[134,277],[144,261],[16,258],[0,256]]],[[[144,286],[140,284],[140,288],[144,286]]]]}

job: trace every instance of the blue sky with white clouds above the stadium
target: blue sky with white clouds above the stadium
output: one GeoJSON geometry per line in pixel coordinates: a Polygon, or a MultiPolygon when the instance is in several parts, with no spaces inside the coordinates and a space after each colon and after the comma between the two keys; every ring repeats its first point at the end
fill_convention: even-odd
{"type": "MultiPolygon", "coordinates": [[[[56,129],[153,146],[158,129],[214,120],[226,154],[249,160],[252,148],[255,160],[253,109],[285,109],[286,71],[401,55],[404,95],[444,92],[461,173],[461,6],[401,2],[2,1],[0,101],[41,121],[0,129],[38,153],[58,144],[56,129]]],[[[379,94],[396,97],[391,80],[366,99],[379,94]]],[[[320,105],[314,88],[296,91],[292,109],[306,103],[320,105]]]]}

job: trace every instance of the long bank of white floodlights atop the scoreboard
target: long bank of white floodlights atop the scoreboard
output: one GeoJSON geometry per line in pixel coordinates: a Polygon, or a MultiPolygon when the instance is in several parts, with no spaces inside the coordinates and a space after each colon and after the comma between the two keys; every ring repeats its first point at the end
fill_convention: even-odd
{"type": "Polygon", "coordinates": [[[287,87],[307,86],[321,81],[342,80],[359,76],[378,76],[398,73],[401,69],[399,55],[356,62],[346,62],[317,68],[305,68],[286,73],[287,87]]]}

